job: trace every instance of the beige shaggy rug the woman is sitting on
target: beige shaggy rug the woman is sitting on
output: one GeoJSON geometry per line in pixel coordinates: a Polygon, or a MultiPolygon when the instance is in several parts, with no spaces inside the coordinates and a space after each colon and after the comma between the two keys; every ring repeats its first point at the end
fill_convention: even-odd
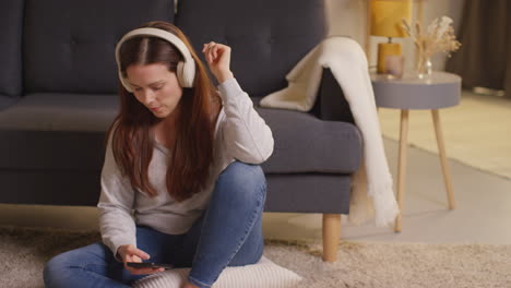
{"type": "MultiPolygon", "coordinates": [[[[96,231],[0,227],[0,287],[43,287],[46,261],[98,239],[96,231]]],[[[332,264],[317,243],[268,240],[264,255],[308,288],[511,287],[511,245],[342,241],[332,264]]]]}

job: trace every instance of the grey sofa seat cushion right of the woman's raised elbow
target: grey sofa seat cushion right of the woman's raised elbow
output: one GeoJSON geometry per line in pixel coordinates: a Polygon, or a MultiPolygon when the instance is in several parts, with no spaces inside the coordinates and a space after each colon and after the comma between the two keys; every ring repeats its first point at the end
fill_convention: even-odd
{"type": "Polygon", "coordinates": [[[257,109],[275,140],[273,155],[262,165],[264,172],[352,173],[358,169],[361,136],[355,125],[299,111],[257,109]]]}

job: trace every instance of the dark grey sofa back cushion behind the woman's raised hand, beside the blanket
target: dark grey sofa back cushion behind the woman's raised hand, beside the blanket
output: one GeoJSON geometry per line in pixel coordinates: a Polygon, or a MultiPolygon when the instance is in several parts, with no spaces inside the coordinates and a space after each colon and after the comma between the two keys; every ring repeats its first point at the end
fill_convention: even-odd
{"type": "Polygon", "coordinates": [[[179,0],[176,25],[200,55],[204,43],[229,45],[231,70],[255,97],[285,87],[326,26],[322,0],[179,0]]]}

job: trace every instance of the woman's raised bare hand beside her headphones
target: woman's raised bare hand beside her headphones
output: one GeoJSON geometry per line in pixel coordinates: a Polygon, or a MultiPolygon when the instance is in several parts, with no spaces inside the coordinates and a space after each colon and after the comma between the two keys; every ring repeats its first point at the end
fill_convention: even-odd
{"type": "Polygon", "coordinates": [[[234,77],[233,72],[230,72],[230,47],[211,41],[204,44],[202,52],[218,83],[234,77]]]}

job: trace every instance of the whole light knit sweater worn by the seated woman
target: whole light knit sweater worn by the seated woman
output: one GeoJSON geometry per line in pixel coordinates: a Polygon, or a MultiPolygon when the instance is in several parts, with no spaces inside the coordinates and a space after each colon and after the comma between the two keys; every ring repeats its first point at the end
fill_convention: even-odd
{"type": "Polygon", "coordinates": [[[203,213],[218,175],[230,163],[237,159],[261,164],[273,153],[272,131],[236,80],[225,81],[218,85],[218,91],[223,108],[215,125],[211,177],[203,191],[185,202],[178,203],[167,193],[165,173],[170,153],[166,147],[158,143],[154,147],[148,176],[158,195],[150,197],[145,192],[134,190],[129,179],[120,173],[108,142],[97,206],[103,242],[114,254],[119,245],[136,245],[135,225],[170,235],[185,233],[203,213]]]}

